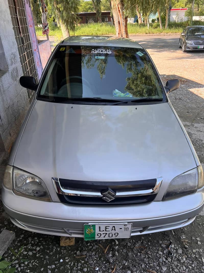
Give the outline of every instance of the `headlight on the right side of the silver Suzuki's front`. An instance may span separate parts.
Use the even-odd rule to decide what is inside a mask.
[[[199,171],[200,167],[201,166],[187,171],[186,173],[182,173],[172,179],[163,199],[173,198],[195,192],[198,188],[198,185],[202,187],[203,182],[201,182],[201,180],[199,181],[199,179],[202,179],[201,171]]]

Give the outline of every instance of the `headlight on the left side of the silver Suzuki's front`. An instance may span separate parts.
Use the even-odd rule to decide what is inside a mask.
[[[7,165],[3,183],[7,189],[13,189],[17,195],[51,201],[42,179],[15,167]]]

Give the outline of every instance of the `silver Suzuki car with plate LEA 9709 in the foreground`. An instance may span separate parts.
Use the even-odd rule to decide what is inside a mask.
[[[203,170],[147,51],[75,36],[55,48],[13,145],[2,200],[18,227],[85,240],[184,227]]]

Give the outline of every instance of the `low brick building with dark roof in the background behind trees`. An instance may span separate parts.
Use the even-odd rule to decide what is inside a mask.
[[[80,12],[78,13],[80,18],[79,24],[96,23],[98,18],[95,12]],[[110,11],[101,11],[102,22],[111,23]]]

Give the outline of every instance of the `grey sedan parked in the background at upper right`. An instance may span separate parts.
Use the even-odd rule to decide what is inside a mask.
[[[204,51],[204,26],[187,26],[181,33],[178,46],[183,52]]]

